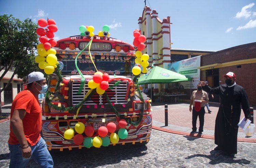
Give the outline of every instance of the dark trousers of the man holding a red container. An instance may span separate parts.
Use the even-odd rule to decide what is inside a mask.
[[[199,132],[203,132],[204,127],[204,107],[201,107],[200,111],[197,112],[195,108],[192,109],[192,131],[197,131],[197,116],[199,116]]]

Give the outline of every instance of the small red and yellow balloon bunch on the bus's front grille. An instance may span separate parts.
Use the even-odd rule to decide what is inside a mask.
[[[96,88],[96,92],[99,95],[103,95],[108,88],[109,75],[107,73],[95,72],[92,80],[88,82],[88,87],[91,89]]]

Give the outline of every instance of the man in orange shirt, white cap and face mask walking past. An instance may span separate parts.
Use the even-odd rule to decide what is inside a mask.
[[[31,156],[41,167],[53,167],[52,156],[40,136],[42,116],[38,94],[48,89],[43,73],[30,73],[27,86],[17,94],[11,107],[10,167],[26,167]]]

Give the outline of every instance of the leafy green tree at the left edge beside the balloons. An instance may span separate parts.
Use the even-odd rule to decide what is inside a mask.
[[[15,74],[23,79],[29,72],[38,70],[34,53],[38,44],[36,29],[37,24],[31,19],[21,21],[12,15],[0,15],[0,71],[3,72],[0,81],[11,68],[14,70],[8,84],[0,93],[9,86]],[[0,116],[1,113],[0,103]]]

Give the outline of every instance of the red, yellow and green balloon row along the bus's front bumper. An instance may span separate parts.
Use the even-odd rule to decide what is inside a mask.
[[[92,138],[94,135],[94,128],[91,125],[84,126],[82,122],[78,122],[75,125],[75,130],[78,134],[74,136],[74,130],[72,128],[66,130],[64,132],[64,138],[66,139],[71,139],[73,138],[73,142],[77,145],[83,144],[86,148],[91,148],[92,146],[98,148],[100,146],[109,146],[110,142],[113,144],[116,144],[120,139],[125,139],[128,135],[127,130],[125,129],[127,122],[124,119],[121,119],[118,122],[119,125],[119,131],[118,134],[114,133],[116,131],[116,124],[113,122],[109,122],[106,127],[101,126],[99,127],[97,133],[99,136],[95,136]],[[86,138],[83,138],[82,133],[85,133],[87,136]],[[108,137],[108,133],[111,133],[110,136]]]

